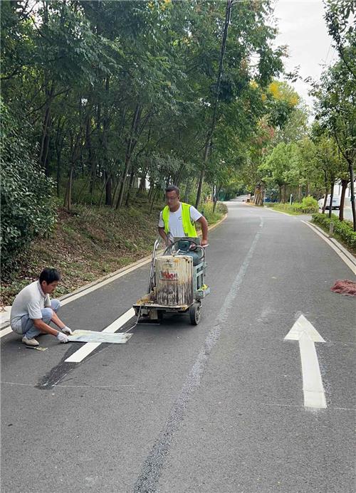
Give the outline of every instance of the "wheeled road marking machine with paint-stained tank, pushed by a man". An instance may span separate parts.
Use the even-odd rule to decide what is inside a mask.
[[[134,305],[140,319],[161,321],[164,313],[189,314],[197,325],[201,317],[201,299],[209,295],[205,284],[206,252],[200,238],[174,238],[162,255],[157,256],[160,240],[152,252],[147,294]],[[140,322],[139,322],[140,323]]]

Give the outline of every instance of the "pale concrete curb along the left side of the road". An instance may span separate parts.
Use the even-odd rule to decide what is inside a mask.
[[[217,228],[217,226],[219,226],[223,221],[225,221],[227,216],[228,216],[228,214],[226,213],[224,215],[224,217],[220,219],[220,221],[218,221],[217,223],[210,226],[208,228],[208,230],[212,231],[215,228]],[[199,233],[199,236],[201,236],[201,233]],[[136,270],[139,267],[142,267],[142,265],[149,263],[151,261],[151,258],[152,258],[152,255],[147,255],[146,257],[141,258],[140,260],[136,260],[136,262],[134,262],[132,264],[125,265],[125,267],[121,267],[120,269],[115,270],[115,272],[111,272],[110,274],[107,274],[103,277],[100,277],[99,279],[97,279],[93,282],[90,282],[89,284],[86,284],[82,287],[78,287],[78,290],[67,293],[66,295],[63,295],[63,296],[59,297],[58,299],[61,302],[64,302],[62,304],[67,304],[70,301],[72,301],[72,298],[77,299],[79,297],[85,296],[89,292],[95,291],[95,290],[99,289],[101,286],[109,284],[110,282],[115,281],[119,277],[122,277],[123,275],[129,274],[133,270]],[[5,308],[6,308],[6,311],[9,313],[9,317],[10,317],[10,308],[11,307],[5,307]],[[8,329],[10,327],[9,326],[9,320],[10,320],[10,318],[5,319],[4,322],[1,322],[0,330]]]

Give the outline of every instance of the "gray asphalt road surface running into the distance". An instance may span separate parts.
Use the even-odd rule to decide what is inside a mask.
[[[83,344],[1,338],[1,492],[355,491],[355,297],[330,291],[350,268],[300,217],[238,201],[209,243],[197,327],[164,317],[80,363],[65,360]],[[60,316],[101,331],[147,276],[140,267]],[[284,339],[302,314],[324,340],[305,343],[303,371],[302,341]],[[326,407],[305,405],[308,378]]]

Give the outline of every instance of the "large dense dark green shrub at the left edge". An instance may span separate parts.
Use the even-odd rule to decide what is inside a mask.
[[[0,101],[1,110],[1,267],[9,275],[16,258],[31,240],[45,235],[55,223],[51,205],[53,183],[24,137],[28,126],[18,124]]]

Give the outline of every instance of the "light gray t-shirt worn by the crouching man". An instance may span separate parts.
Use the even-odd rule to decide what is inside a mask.
[[[11,307],[11,329],[21,329],[21,318],[28,315],[30,319],[41,319],[43,308],[51,307],[49,295],[45,295],[39,281],[31,282],[19,292]]]

